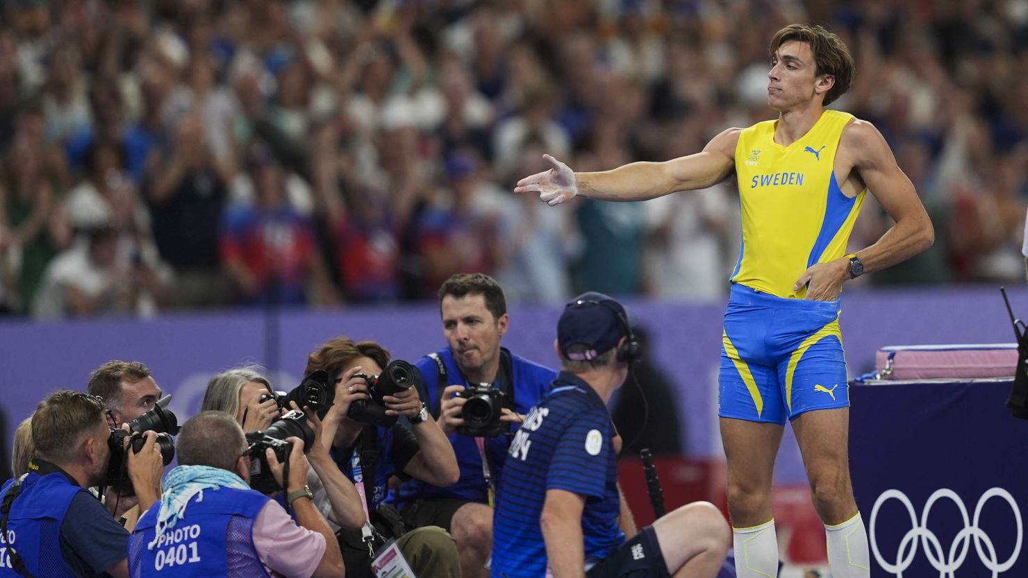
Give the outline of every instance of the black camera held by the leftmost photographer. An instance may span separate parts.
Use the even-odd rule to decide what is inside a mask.
[[[172,435],[179,432],[179,420],[175,414],[168,409],[172,396],[164,395],[157,400],[152,410],[128,422],[128,431],[120,428],[111,428],[111,435],[107,438],[107,447],[111,450],[110,465],[107,466],[107,478],[105,484],[114,488],[122,496],[133,496],[136,490],[132,487],[132,480],[125,475],[125,467],[128,464],[127,452],[123,446],[125,437],[132,437],[128,445],[134,454],[138,454],[143,449],[146,438],[143,433],[146,431],[157,432],[157,444],[160,445],[160,457],[164,465],[172,463],[175,458],[175,442]]]

